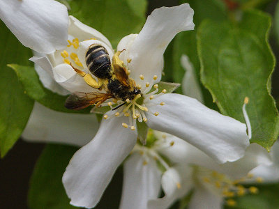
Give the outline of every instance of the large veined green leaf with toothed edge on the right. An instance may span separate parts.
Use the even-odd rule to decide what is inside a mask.
[[[275,64],[267,42],[270,26],[268,15],[250,10],[238,25],[206,21],[197,34],[204,86],[223,114],[242,122],[241,107],[247,96],[251,141],[267,149],[279,131],[278,111],[270,95]]]

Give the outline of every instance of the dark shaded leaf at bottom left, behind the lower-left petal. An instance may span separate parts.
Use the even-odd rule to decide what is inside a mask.
[[[47,145],[40,155],[31,176],[28,204],[30,209],[70,209],[62,176],[77,148]]]

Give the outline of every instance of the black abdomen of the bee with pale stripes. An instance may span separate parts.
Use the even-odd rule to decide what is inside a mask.
[[[112,77],[110,56],[102,45],[91,45],[86,52],[85,61],[90,72],[96,77],[100,79]]]

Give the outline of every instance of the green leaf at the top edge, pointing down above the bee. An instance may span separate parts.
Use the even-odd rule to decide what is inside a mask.
[[[69,1],[70,15],[103,33],[116,48],[119,40],[139,33],[146,20],[146,0]]]

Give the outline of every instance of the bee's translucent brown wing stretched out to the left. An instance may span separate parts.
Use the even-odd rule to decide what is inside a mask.
[[[84,109],[92,104],[101,104],[110,98],[112,98],[110,93],[75,92],[69,95],[65,102],[65,107],[68,109]]]

